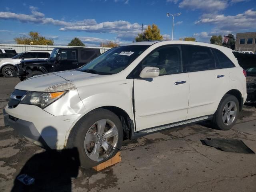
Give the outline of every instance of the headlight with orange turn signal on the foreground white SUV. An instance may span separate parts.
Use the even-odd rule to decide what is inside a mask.
[[[68,91],[61,92],[29,92],[20,104],[36,105],[40,108],[45,108],[58,98],[66,94]]]

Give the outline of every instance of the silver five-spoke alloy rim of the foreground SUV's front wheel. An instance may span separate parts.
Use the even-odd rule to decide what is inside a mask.
[[[111,156],[118,143],[118,128],[108,119],[95,122],[84,138],[84,150],[93,161],[103,161]]]

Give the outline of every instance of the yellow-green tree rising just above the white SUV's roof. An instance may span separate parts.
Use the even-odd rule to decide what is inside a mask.
[[[143,34],[139,34],[135,37],[136,42],[140,41],[151,41],[151,40],[162,40],[163,36],[160,35],[160,29],[157,25],[152,24],[152,27],[148,25]]]

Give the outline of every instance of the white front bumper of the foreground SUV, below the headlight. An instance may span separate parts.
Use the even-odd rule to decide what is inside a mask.
[[[54,116],[38,106],[18,104],[15,108],[6,106],[4,122],[42,148],[61,150],[80,115]]]

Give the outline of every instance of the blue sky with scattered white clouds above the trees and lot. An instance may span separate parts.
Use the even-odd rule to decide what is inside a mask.
[[[87,46],[113,40],[132,42],[141,24],[156,24],[164,38],[194,36],[209,42],[212,35],[256,31],[256,0],[0,0],[0,43],[38,31],[56,45],[74,37]]]

